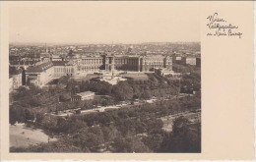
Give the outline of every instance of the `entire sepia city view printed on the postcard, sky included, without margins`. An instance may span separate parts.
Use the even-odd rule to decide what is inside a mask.
[[[10,153],[201,153],[198,5],[12,3]]]

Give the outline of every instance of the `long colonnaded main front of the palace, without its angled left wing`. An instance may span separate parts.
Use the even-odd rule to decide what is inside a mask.
[[[134,71],[149,72],[156,68],[172,70],[172,59],[162,55],[101,55],[81,56],[76,58],[78,72],[105,71]]]

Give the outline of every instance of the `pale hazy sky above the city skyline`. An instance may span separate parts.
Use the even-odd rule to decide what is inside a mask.
[[[196,2],[13,2],[10,42],[200,41]]]

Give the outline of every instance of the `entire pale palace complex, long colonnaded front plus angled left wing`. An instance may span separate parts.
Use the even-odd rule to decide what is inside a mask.
[[[42,58],[26,70],[26,82],[44,85],[63,76],[98,71],[154,72],[155,69],[172,70],[172,59],[163,55],[72,55],[62,59]]]

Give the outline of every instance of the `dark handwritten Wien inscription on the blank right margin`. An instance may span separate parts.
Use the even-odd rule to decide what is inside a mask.
[[[207,27],[210,29],[207,33],[208,36],[242,37],[242,32],[239,31],[239,27],[229,24],[225,19],[220,18],[218,13],[207,17],[207,20],[209,20]]]

